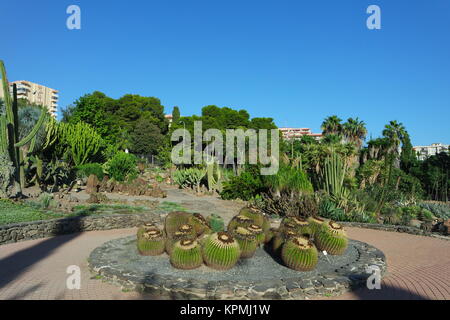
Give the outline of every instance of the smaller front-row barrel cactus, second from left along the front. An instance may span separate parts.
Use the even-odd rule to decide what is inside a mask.
[[[196,240],[180,240],[173,245],[170,263],[177,269],[195,269],[203,264],[202,250]]]

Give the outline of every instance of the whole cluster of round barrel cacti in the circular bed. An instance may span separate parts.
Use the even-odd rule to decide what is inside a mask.
[[[279,228],[271,228],[267,216],[252,207],[243,208],[233,217],[227,231],[214,232],[199,213],[176,211],[167,215],[164,230],[146,223],[137,233],[139,253],[166,252],[173,267],[185,270],[203,264],[228,270],[239,259],[253,257],[263,245],[279,255],[287,267],[310,271],[316,267],[320,251],[341,255],[348,240],[342,226],[320,217],[285,217]]]

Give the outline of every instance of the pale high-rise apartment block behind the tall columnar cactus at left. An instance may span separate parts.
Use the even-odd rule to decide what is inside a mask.
[[[9,83],[9,89],[11,93],[14,84],[17,86],[18,99],[26,99],[30,103],[44,106],[48,109],[53,117],[56,117],[56,110],[58,108],[59,99],[58,90],[48,88],[30,81],[20,80]],[[0,89],[0,98],[3,98],[3,87],[1,87]]]

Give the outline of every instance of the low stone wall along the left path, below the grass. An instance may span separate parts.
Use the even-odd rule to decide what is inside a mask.
[[[0,245],[84,231],[133,228],[144,222],[160,222],[156,213],[105,214],[41,220],[0,226]]]

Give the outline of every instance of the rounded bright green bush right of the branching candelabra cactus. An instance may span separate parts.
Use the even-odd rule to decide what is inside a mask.
[[[131,153],[118,152],[105,164],[107,173],[116,181],[134,179],[138,175],[137,158]]]

